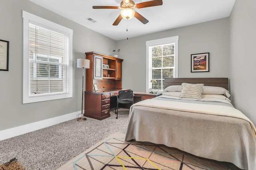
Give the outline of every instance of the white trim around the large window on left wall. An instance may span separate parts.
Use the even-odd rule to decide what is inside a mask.
[[[73,41],[73,30],[69,29],[67,27],[64,27],[62,25],[59,25],[57,23],[54,23],[52,21],[48,21],[44,18],[35,16],[33,14],[30,14],[26,11],[22,11],[22,17],[23,17],[23,104],[26,103],[33,103],[33,102],[42,102],[42,101],[48,101],[48,100],[57,100],[57,99],[63,99],[63,98],[72,98],[73,97],[73,74],[72,74],[72,41]],[[29,22],[31,23],[38,23],[39,25],[44,25],[46,28],[51,29],[56,32],[66,33],[69,36],[69,47],[68,47],[68,53],[69,53],[69,62],[68,62],[68,74],[69,74],[69,93],[68,94],[58,94],[58,95],[47,95],[47,96],[34,96],[29,97],[29,43],[28,43],[28,30],[29,30]]]

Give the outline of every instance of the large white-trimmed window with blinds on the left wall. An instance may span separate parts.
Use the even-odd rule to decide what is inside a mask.
[[[23,11],[23,103],[72,97],[73,31]]]

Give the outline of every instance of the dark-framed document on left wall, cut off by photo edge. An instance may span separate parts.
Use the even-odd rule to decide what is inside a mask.
[[[9,70],[9,41],[0,39],[0,70]]]

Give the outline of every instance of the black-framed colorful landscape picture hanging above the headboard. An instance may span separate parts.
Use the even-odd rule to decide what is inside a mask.
[[[199,53],[191,55],[191,72],[209,72],[209,54]]]

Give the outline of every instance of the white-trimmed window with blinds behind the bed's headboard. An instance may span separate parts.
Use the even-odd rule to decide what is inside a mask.
[[[146,89],[162,91],[164,78],[178,77],[178,36],[146,41],[146,46]]]

